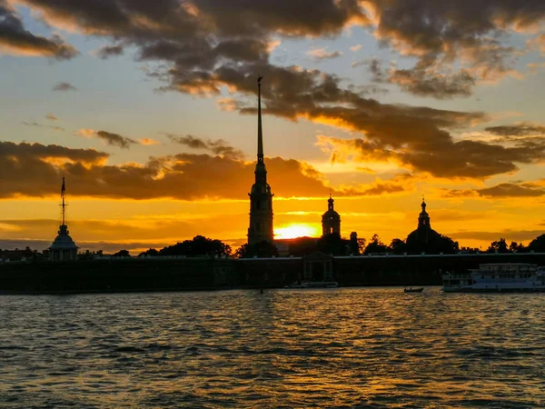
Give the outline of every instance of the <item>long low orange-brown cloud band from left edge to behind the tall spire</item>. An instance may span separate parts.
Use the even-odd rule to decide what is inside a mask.
[[[143,165],[107,165],[108,158],[94,149],[0,142],[0,197],[57,195],[59,179],[65,176],[70,195],[246,200],[254,182],[255,164],[228,155],[181,153],[150,157]],[[281,157],[265,161],[276,197],[317,197],[329,191],[323,175],[311,165]],[[360,194],[348,188],[333,193]]]

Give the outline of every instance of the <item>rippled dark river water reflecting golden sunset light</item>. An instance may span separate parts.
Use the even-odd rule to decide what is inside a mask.
[[[0,297],[0,407],[545,407],[545,294]]]

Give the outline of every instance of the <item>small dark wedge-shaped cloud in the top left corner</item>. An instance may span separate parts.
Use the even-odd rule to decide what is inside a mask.
[[[78,55],[59,35],[45,38],[25,30],[21,17],[5,0],[0,0],[0,46],[16,55],[41,55],[57,60]]]

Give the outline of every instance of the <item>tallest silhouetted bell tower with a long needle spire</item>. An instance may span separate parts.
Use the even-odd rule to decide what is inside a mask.
[[[250,196],[250,227],[248,228],[248,244],[263,241],[272,242],[272,193],[267,184],[267,169],[263,156],[263,129],[261,115],[261,80],[257,79],[258,108],[257,108],[257,164],[255,165],[255,183]]]

